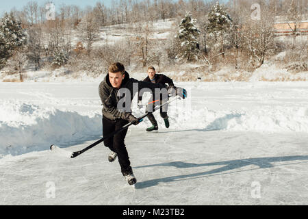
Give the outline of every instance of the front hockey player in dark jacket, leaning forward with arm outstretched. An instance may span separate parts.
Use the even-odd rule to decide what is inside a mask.
[[[129,122],[132,122],[133,125],[140,123],[138,118],[131,114],[130,105],[136,92],[143,88],[151,89],[153,94],[156,94],[155,92],[159,88],[159,96],[162,94],[166,98],[168,98],[168,94],[173,96],[179,95],[185,98],[183,96],[185,90],[182,88],[170,88],[167,93],[167,86],[162,84],[148,83],[129,78],[129,74],[125,71],[123,64],[116,62],[109,67],[108,74],[99,84],[99,96],[103,103],[103,136],[109,135]],[[124,94],[123,98],[119,96],[121,93]],[[122,101],[123,99],[125,100],[124,102]],[[133,185],[136,183],[136,177],[133,175],[129,155],[124,143],[126,133],[127,129],[120,131],[120,133],[113,137],[104,140],[104,144],[112,151],[108,157],[109,161],[114,162],[116,157],[118,157],[123,176],[129,185]]]

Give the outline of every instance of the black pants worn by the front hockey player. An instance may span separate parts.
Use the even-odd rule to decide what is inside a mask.
[[[124,125],[129,123],[127,120],[117,119],[110,120],[103,116],[103,136],[107,136],[108,134],[120,129]],[[127,129],[120,131],[113,137],[107,138],[104,140],[104,145],[107,146],[111,151],[114,151],[118,155],[118,162],[121,167],[121,172],[123,175],[126,173],[131,173],[131,162],[129,162],[129,155],[127,153],[127,149],[125,147],[125,136],[127,133]]]

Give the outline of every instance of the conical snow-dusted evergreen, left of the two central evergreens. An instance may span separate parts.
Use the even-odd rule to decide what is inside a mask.
[[[188,12],[179,24],[178,38],[181,42],[181,50],[177,57],[180,60],[194,61],[198,60],[199,43],[198,36],[200,31],[196,27],[196,19]]]

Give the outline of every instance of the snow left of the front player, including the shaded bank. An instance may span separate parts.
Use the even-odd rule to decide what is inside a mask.
[[[18,86],[18,88],[16,88]],[[46,88],[49,87],[49,88]],[[84,111],[86,105],[99,105],[97,101],[85,99],[82,101],[82,90],[78,86],[69,84],[64,86],[79,96],[78,101],[65,96],[65,99],[57,99],[54,94],[67,95],[57,92],[57,86],[33,83],[1,85],[0,101],[0,154],[11,153],[18,155],[29,151],[41,151],[46,149],[49,142],[69,143],[84,136],[98,135],[101,133],[101,111]],[[31,88],[32,87],[32,88]],[[31,89],[29,89],[31,88]],[[15,91],[8,95],[8,90]],[[53,90],[53,93],[49,92]],[[55,92],[55,93],[54,93]],[[29,101],[24,102],[24,99]],[[70,100],[69,100],[70,99]],[[81,109],[78,113],[73,111]],[[86,109],[88,109],[86,107]]]

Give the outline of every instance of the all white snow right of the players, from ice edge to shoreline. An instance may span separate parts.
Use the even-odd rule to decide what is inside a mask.
[[[296,82],[176,83],[188,90],[188,99],[170,103],[170,127],[199,131],[308,133],[307,98],[301,91],[306,83],[299,82],[297,88],[292,83]],[[146,100],[146,97],[142,99],[144,103]],[[136,105],[133,105],[133,112],[138,112]],[[164,129],[159,112],[154,115],[159,127]],[[149,125],[146,119],[138,127]]]

